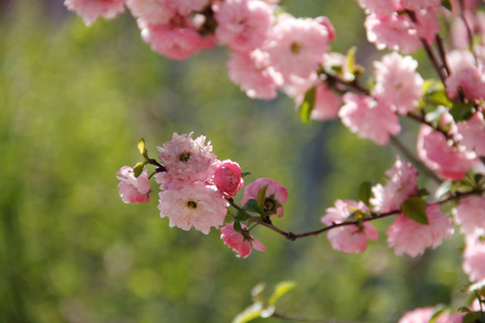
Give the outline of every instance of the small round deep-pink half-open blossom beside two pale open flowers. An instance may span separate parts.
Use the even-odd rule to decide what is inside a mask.
[[[237,191],[244,185],[239,164],[231,160],[219,162],[214,174],[214,183],[224,196],[235,196]]]

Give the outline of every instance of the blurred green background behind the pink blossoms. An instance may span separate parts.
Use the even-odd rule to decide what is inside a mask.
[[[333,50],[357,44],[359,62],[375,57],[354,1],[282,3],[329,16]],[[333,251],[324,235],[291,242],[259,228],[267,252],[240,259],[217,231],[170,229],[156,194],[123,204],[115,174],[139,160],[141,137],[154,156],[173,132],[207,135],[219,159],[251,171],[246,182],[288,188],[276,224],[295,232],[320,228],[335,199],[382,179],[396,152],[338,121],[303,125],[284,95],[249,100],[226,77],[224,48],[183,62],[155,54],[128,13],[87,28],[60,0],[0,10],[0,322],[230,322],[252,286],[281,280],[298,286],[278,303],[290,316],[395,322],[415,307],[462,305],[459,235],[411,259],[386,247],[392,219],[375,223],[380,240],[359,255]]]

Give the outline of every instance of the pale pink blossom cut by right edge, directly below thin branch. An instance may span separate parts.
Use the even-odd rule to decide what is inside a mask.
[[[462,225],[465,234],[485,230],[485,197],[469,196],[454,209],[456,222]]]

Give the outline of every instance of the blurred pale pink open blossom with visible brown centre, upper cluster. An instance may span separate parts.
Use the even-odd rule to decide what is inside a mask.
[[[308,77],[322,62],[329,48],[331,33],[316,19],[278,16],[263,49],[269,53],[270,64],[287,80],[290,75]]]

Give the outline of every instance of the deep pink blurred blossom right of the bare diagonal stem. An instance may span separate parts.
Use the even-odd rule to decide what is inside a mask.
[[[418,135],[419,158],[445,179],[463,179],[475,160],[475,153],[447,144],[445,135],[422,125]]]

